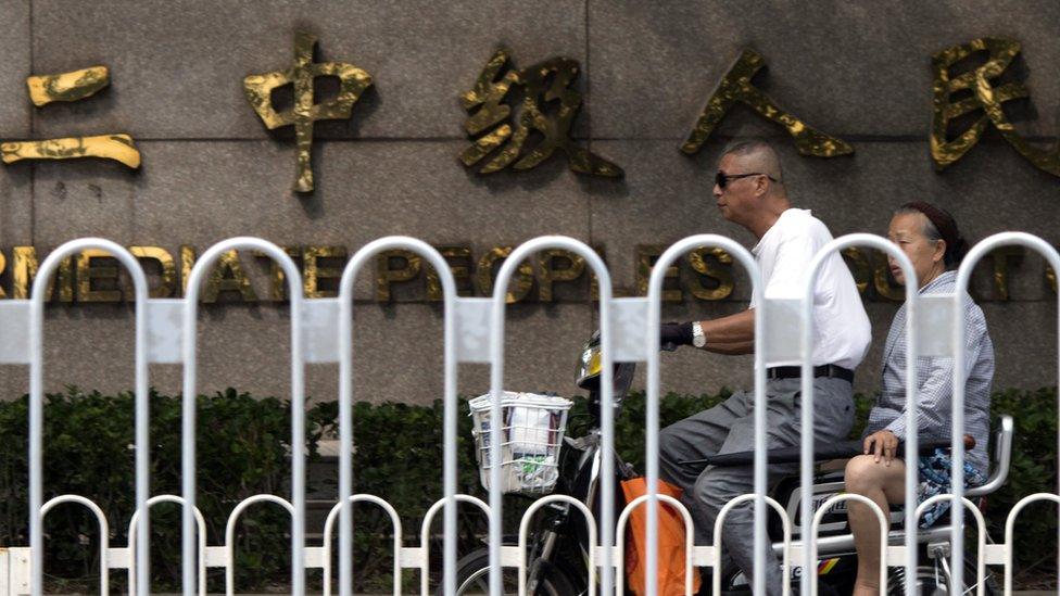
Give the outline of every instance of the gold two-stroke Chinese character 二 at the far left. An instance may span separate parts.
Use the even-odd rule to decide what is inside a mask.
[[[71,73],[39,75],[26,78],[29,99],[40,107],[54,101],[78,101],[96,94],[110,85],[106,66],[92,66]],[[114,160],[136,169],[140,167],[140,152],[128,135],[100,135],[39,141],[0,143],[0,160],[13,164],[23,160],[73,160],[101,157]]]

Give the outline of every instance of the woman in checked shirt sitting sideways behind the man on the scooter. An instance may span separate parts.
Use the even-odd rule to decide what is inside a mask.
[[[952,294],[957,272],[951,270],[964,254],[966,244],[957,223],[946,212],[923,202],[907,203],[895,212],[887,237],[897,244],[917,274],[920,295]],[[898,283],[907,280],[898,264],[888,259]],[[990,381],[994,377],[994,345],[986,331],[983,312],[966,302],[964,432],[975,440],[966,455],[964,482],[974,486],[985,482],[986,445],[989,434]],[[869,414],[865,455],[847,464],[846,489],[871,498],[888,511],[905,499],[906,462],[895,457],[906,438],[906,306],[895,314],[887,334],[883,360],[880,401]],[[917,363],[917,431],[921,440],[947,439],[951,430],[952,358],[920,357]],[[920,470],[918,498],[950,492],[951,462],[946,451],[917,460]],[[929,509],[921,525],[933,523],[949,507],[944,500]],[[858,550],[856,596],[880,593],[880,525],[869,507],[850,502],[850,529]]]

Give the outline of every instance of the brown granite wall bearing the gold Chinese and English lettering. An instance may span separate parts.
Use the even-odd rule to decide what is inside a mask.
[[[994,131],[961,162],[936,173],[929,154],[931,55],[1000,36],[1023,43],[1017,75],[1031,89],[1014,102],[1019,130],[1055,141],[1060,114],[1060,4],[946,1],[851,2],[0,2],[0,139],[125,131],[143,166],[130,173],[100,161],[0,167],[0,251],[47,253],[83,236],[125,245],[179,245],[201,253],[239,234],[285,245],[343,245],[403,233],[432,244],[467,244],[476,258],[499,245],[561,233],[602,245],[616,283],[632,286],[636,244],[669,244],[698,232],[753,238],[721,219],[709,196],[714,163],[733,137],[767,137],[781,151],[798,206],[836,236],[885,231],[896,205],[934,201],[957,215],[970,239],[1025,230],[1060,241],[1060,179],[1034,168]],[[324,60],[356,64],[375,86],[350,122],[316,127],[316,191],[291,192],[291,136],[268,132],[247,103],[242,78],[287,68],[293,36],[319,37]],[[578,60],[584,94],[573,127],[593,152],[622,166],[621,180],[586,178],[556,156],[529,172],[477,175],[457,161],[467,147],[458,94],[494,49],[517,65],[556,55]],[[743,48],[768,72],[756,79],[778,103],[854,144],[853,156],[800,156],[775,125],[737,107],[697,155],[678,148],[717,81]],[[101,94],[35,109],[29,74],[94,64],[111,67]],[[258,295],[263,263],[244,257]],[[989,265],[985,265],[988,267]],[[998,353],[997,386],[1056,383],[1056,296],[1042,259],[1010,271],[1008,301],[989,271],[977,280]],[[367,275],[365,277],[371,277]],[[0,287],[11,289],[9,270]],[[370,280],[358,294],[358,400],[427,402],[441,394],[441,316],[419,284],[379,304]],[[570,392],[577,351],[594,328],[588,279],[564,286],[555,303],[509,308],[508,385]],[[722,302],[685,296],[665,317],[686,320],[743,308],[748,286]],[[418,297],[417,297],[418,296]],[[872,301],[873,350],[857,386],[875,385],[894,303]],[[288,316],[274,303],[203,308],[200,388],[288,392]],[[132,386],[131,308],[73,304],[49,308],[49,389]],[[5,367],[0,394],[26,388],[26,370]],[[683,351],[667,355],[664,386],[714,392],[750,378],[749,358]],[[178,391],[180,371],[152,368],[152,383]],[[483,366],[460,368],[462,393],[488,388]],[[337,370],[311,367],[307,392],[333,398]]]

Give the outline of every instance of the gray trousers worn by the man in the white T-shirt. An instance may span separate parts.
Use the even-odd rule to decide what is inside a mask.
[[[769,448],[799,444],[800,389],[799,379],[775,379],[766,383],[768,416],[766,421]],[[817,442],[846,439],[854,423],[854,391],[850,383],[833,378],[813,380],[813,436]],[[699,470],[681,466],[689,459],[709,455],[755,449],[755,393],[734,393],[723,403],[670,424],[659,433],[659,469],[667,482],[684,491],[682,502],[695,522],[695,543],[712,544],[714,524],[718,512],[730,499],[754,492],[754,470],[750,466],[715,467]],[[769,480],[797,473],[798,465],[770,465]],[[754,505],[735,507],[727,516],[722,529],[724,555],[722,565],[735,563],[747,575],[754,572]],[[767,516],[773,515],[772,509]],[[769,594],[781,594],[783,578],[780,561],[768,549],[766,585]]]

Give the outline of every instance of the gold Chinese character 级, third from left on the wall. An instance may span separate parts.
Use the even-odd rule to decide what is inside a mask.
[[[621,176],[621,167],[579,147],[569,136],[581,107],[581,93],[570,89],[578,69],[575,60],[553,58],[516,71],[509,64],[509,52],[497,50],[475,88],[460,96],[460,103],[469,114],[464,123],[468,135],[475,137],[495,127],[460,153],[464,165],[474,166],[503,144],[500,153],[479,169],[480,174],[499,172],[509,165],[515,169],[530,169],[558,149],[567,154],[570,169],[579,174]],[[513,125],[505,122],[512,115],[512,106],[504,101],[514,87],[522,88],[523,98],[513,130]],[[556,101],[555,111],[548,110]],[[526,142],[531,132],[540,134],[542,140],[528,149]]]

